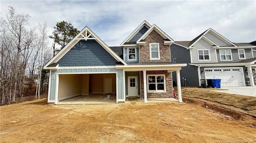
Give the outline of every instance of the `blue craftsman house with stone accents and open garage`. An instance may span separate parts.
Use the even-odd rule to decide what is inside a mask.
[[[178,79],[178,101],[182,102],[180,69],[187,64],[171,62],[172,43],[173,39],[159,27],[146,21],[120,47],[108,47],[84,27],[44,65],[50,70],[48,102],[61,104],[76,98],[72,102],[82,104],[79,101],[93,100],[89,96],[104,102],[106,94],[115,96],[114,103],[125,102],[129,96],[144,102],[148,98],[173,98],[173,71]]]

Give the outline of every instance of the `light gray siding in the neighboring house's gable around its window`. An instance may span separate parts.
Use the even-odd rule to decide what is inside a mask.
[[[209,50],[210,61],[199,61],[198,60],[198,49]],[[209,44],[204,39],[200,39],[197,43],[194,44],[194,48],[191,49],[192,63],[216,63],[216,50],[212,48],[212,45]]]

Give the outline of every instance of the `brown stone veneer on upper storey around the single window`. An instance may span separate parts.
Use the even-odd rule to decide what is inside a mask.
[[[170,62],[170,45],[164,45],[164,38],[153,30],[146,38],[146,44],[140,46],[140,63]],[[150,60],[150,43],[159,43],[160,60]]]

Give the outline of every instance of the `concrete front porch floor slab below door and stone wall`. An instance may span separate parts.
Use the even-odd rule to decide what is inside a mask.
[[[140,98],[131,98],[129,101],[125,101],[125,103],[144,103],[144,99]],[[148,98],[147,103],[179,103],[175,98]]]

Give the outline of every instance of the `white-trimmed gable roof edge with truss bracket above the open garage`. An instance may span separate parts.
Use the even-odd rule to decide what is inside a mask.
[[[92,32],[87,26],[84,27],[78,35],[76,35],[63,49],[61,49],[48,63],[44,65],[44,69],[52,63],[57,63],[78,41],[95,39],[116,61],[122,62],[124,65],[127,65],[122,58],[120,58],[116,53],[114,53],[108,45],[106,45],[94,32]]]

